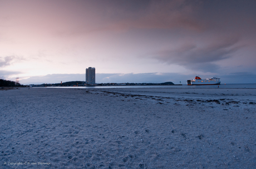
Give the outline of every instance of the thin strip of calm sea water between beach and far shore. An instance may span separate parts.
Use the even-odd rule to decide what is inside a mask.
[[[256,89],[256,83],[253,84],[220,84],[220,85],[170,85],[170,86],[93,86],[93,87],[86,87],[86,86],[67,86],[67,87],[47,87],[47,88],[72,88],[72,89],[102,89],[102,88],[250,88]]]

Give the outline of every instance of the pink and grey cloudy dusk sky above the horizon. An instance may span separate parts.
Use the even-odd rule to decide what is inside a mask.
[[[256,1],[0,0],[0,78],[256,83]]]

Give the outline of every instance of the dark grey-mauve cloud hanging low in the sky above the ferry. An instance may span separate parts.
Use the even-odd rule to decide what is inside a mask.
[[[238,49],[239,38],[229,37],[224,40],[211,41],[210,44],[196,44],[196,42],[184,42],[180,47],[172,50],[164,50],[152,54],[160,62],[178,64],[188,69],[201,70],[204,72],[216,72],[219,68],[214,62],[228,59]],[[208,42],[209,43],[209,42]]]

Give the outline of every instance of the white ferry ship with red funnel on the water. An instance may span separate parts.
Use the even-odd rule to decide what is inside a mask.
[[[188,85],[218,85],[220,84],[220,78],[212,77],[209,79],[201,79],[199,76],[195,76],[193,80],[187,80]]]

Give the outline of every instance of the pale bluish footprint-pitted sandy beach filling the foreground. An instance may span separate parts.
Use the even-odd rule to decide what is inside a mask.
[[[255,168],[256,89],[0,91],[0,168]]]

